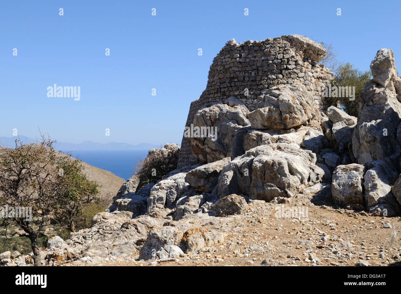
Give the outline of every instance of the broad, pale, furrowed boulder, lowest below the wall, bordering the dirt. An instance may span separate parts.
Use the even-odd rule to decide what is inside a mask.
[[[316,155],[297,144],[261,145],[223,167],[216,193],[219,198],[243,194],[265,201],[292,197],[322,181],[324,171],[315,163]]]

